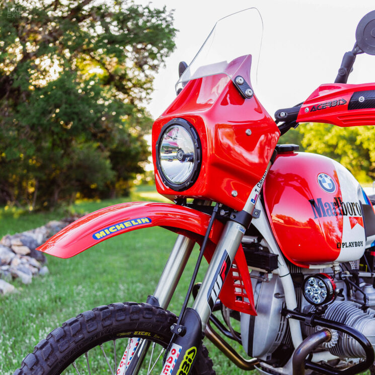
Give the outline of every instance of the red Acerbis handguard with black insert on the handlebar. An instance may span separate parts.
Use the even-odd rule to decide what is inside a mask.
[[[321,85],[302,104],[296,121],[375,125],[374,90],[374,83]]]

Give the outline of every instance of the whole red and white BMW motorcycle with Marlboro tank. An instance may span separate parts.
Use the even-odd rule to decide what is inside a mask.
[[[228,22],[236,32],[246,25],[246,54]],[[375,201],[339,163],[277,144],[303,122],[374,124],[375,84],[346,82],[357,54],[375,55],[375,11],[359,22],[335,82],[275,120],[257,97],[261,34],[257,9],[236,13],[216,23],[189,66],[180,63],[177,97],[152,134],[156,187],[174,204],[107,207],[38,249],[68,258],[129,231],[166,228],[178,236],[154,293],[69,319],[15,375],[214,374],[203,338],[262,374],[375,373]],[[176,317],[167,308],[195,243]],[[195,283],[203,257],[208,269]]]

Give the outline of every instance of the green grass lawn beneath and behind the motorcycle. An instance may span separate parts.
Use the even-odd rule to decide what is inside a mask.
[[[70,210],[93,211],[124,201],[155,198],[154,189],[138,189],[129,198],[79,202]],[[3,208],[0,237],[35,228],[64,214]],[[0,297],[0,373],[11,375],[36,343],[85,310],[113,302],[144,302],[155,290],[175,238],[165,229],[149,228],[114,237],[70,259],[47,256],[49,275],[36,277],[30,285],[15,282],[18,292]],[[180,312],[197,255],[195,249],[172,298],[169,309],[175,314]],[[205,261],[202,265],[197,280],[202,279],[206,269]],[[210,342],[205,340],[205,344],[218,375],[243,373]]]

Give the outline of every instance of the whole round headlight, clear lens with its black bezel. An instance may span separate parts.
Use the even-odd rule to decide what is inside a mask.
[[[177,118],[164,125],[156,144],[156,164],[164,184],[173,190],[186,190],[196,181],[201,147],[188,121]]]

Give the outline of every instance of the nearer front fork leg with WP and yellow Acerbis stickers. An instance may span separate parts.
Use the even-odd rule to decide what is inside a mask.
[[[173,339],[161,375],[187,375],[202,341],[211,310],[231,269],[246,229],[227,221],[192,308],[181,320],[181,334]],[[183,335],[184,330],[187,333]],[[177,355],[177,356],[176,356]]]

